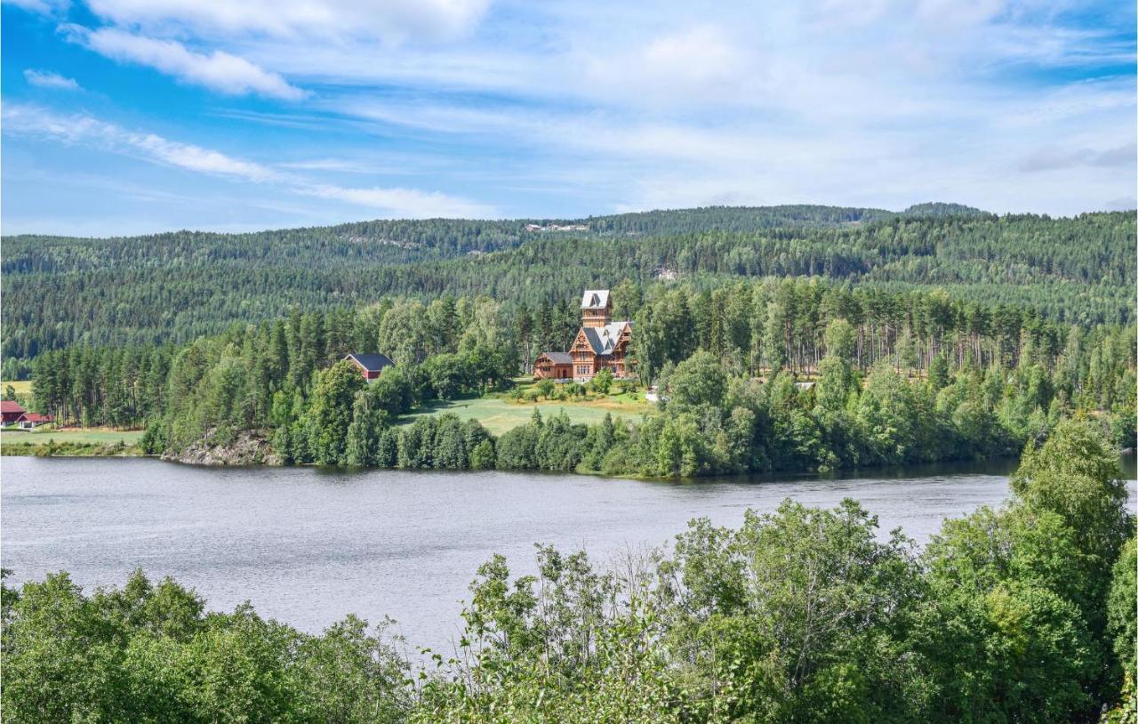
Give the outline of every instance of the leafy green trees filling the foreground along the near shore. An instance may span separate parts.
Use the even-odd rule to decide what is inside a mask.
[[[495,556],[453,657],[386,627],[207,614],[135,574],[2,591],[6,721],[1111,722],[1138,717],[1135,521],[1116,452],[1065,422],[1012,497],[924,550],[851,500],[693,520],[612,568]]]

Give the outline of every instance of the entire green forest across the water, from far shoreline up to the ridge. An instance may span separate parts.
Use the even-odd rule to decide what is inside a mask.
[[[1133,214],[702,208],[541,222],[6,241],[5,375],[63,425],[286,463],[703,476],[1133,446]],[[402,417],[509,390],[612,285],[644,419]],[[460,294],[467,290],[469,294]],[[349,352],[396,367],[365,385]],[[603,384],[603,389],[597,389]],[[605,378],[546,398],[607,393]]]

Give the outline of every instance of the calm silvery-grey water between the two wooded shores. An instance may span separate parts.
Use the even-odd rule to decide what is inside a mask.
[[[535,542],[584,546],[603,561],[666,543],[693,517],[737,526],[747,508],[770,511],[785,497],[826,507],[855,497],[883,532],[901,526],[923,543],[945,517],[1000,503],[1011,468],[676,484],[3,458],[2,561],[17,582],[66,569],[84,587],[122,584],[142,567],[195,587],[213,609],[249,599],[307,631],[347,612],[386,614],[412,644],[447,648],[492,553],[519,573],[531,571]]]

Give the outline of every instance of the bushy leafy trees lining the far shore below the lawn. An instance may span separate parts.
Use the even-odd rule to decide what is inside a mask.
[[[828,332],[834,348],[842,348],[843,335],[848,348],[848,326],[835,322]],[[955,375],[934,365],[920,384],[877,367],[863,381],[848,359],[832,353],[818,381],[802,386],[785,372],[767,382],[732,378],[699,352],[661,377],[666,401],[640,422],[607,416],[574,425],[564,413],[535,412],[495,438],[477,421],[450,414],[394,425],[391,410],[407,398],[393,394],[406,386],[403,379],[396,373],[365,387],[346,363],[321,373],[310,411],[277,428],[274,450],[284,462],[699,477],[1011,455],[1081,414],[1034,365],[1007,373],[966,367]],[[1130,398],[1095,425],[1115,444],[1132,446]]]

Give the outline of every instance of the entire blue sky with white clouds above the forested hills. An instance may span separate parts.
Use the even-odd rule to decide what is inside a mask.
[[[1135,22],[1131,0],[5,1],[0,221],[1133,208]]]

